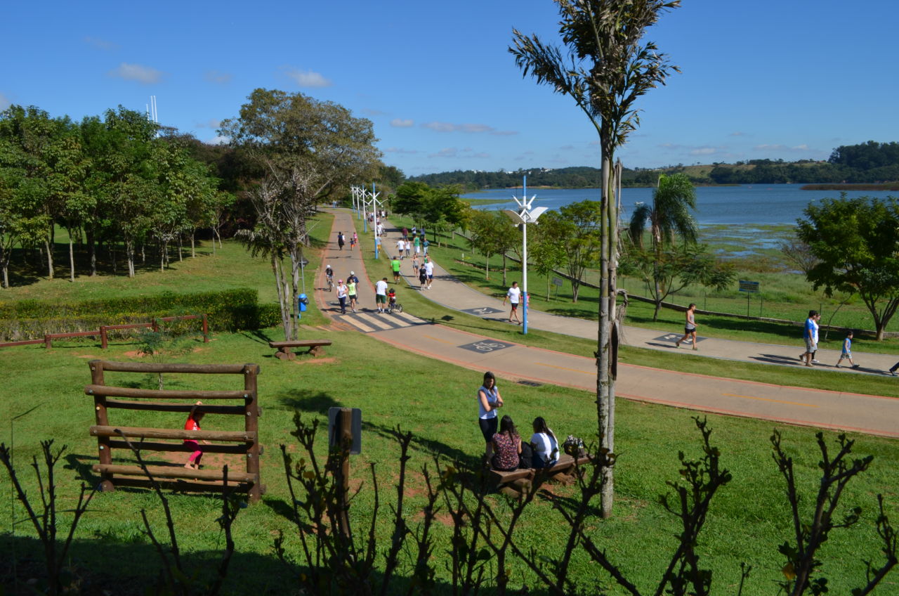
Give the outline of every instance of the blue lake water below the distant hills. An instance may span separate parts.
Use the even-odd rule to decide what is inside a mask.
[[[839,191],[800,190],[802,185],[740,185],[699,186],[696,189],[696,221],[700,226],[788,224],[803,216],[808,203],[824,198],[840,198]],[[578,201],[599,201],[598,188],[538,188],[528,189],[528,196],[537,195],[533,206],[557,209]],[[512,196],[521,198],[521,188],[502,188],[482,193],[463,194],[463,199],[495,199],[496,203],[476,205],[481,209],[516,209]],[[886,191],[852,191],[850,198],[874,196],[886,198],[899,193]],[[649,203],[652,188],[624,188],[621,191],[621,221],[628,221],[634,203]]]

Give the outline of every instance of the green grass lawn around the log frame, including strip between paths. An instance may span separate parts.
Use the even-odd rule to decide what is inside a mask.
[[[323,217],[313,228],[316,241],[325,239],[330,230],[330,219]],[[361,236],[361,234],[360,234]],[[363,246],[370,246],[363,240]],[[455,248],[435,256],[441,265],[449,261]],[[221,259],[221,263],[219,263]],[[311,265],[318,258],[309,258]],[[187,268],[196,266],[196,269]],[[258,287],[267,300],[273,300],[274,288],[271,268],[267,261],[252,259],[243,248],[228,245],[216,257],[211,255],[187,259],[175,264],[162,275],[150,271],[141,272],[129,280],[104,275],[99,279],[79,278],[76,284],[54,280],[40,281],[29,288],[13,288],[6,299],[14,296],[40,297],[47,300],[68,300],[90,297],[88,287],[97,293],[153,292],[156,288],[169,291],[192,291],[195,284],[206,289],[219,287],[219,283],[234,286]],[[205,267],[201,266],[205,265]],[[367,255],[369,276],[380,277],[387,271],[387,260],[382,256],[377,263]],[[312,287],[313,272],[307,269],[307,291]],[[227,281],[226,281],[227,280]],[[182,288],[176,290],[174,288]],[[489,289],[489,288],[488,288]],[[501,288],[500,288],[501,289]],[[27,292],[26,292],[27,290]],[[499,291],[494,288],[492,291]],[[17,294],[18,293],[18,294]],[[22,295],[25,293],[26,295]],[[483,321],[464,313],[447,312],[416,292],[401,293],[406,311],[425,319],[489,335],[524,343],[525,338],[507,325]],[[595,304],[593,305],[595,306]],[[680,324],[681,319],[677,319]],[[312,309],[304,315],[303,323],[318,326],[325,322],[321,313]],[[706,321],[708,323],[708,321]],[[673,322],[672,322],[673,324]],[[760,333],[762,333],[760,331]],[[289,573],[273,555],[272,542],[279,531],[286,533],[289,553],[298,555],[298,540],[289,523],[289,493],[280,463],[280,444],[291,453],[297,453],[296,440],[290,436],[291,419],[295,411],[304,418],[325,420],[325,412],[331,406],[359,407],[363,415],[363,447],[360,456],[352,458],[352,486],[362,489],[353,502],[352,520],[357,528],[363,528],[366,514],[373,507],[371,482],[366,472],[370,463],[376,464],[381,487],[383,519],[376,531],[381,538],[389,537],[393,530],[388,506],[396,499],[392,483],[396,481],[397,450],[387,437],[388,429],[401,425],[414,432],[413,459],[410,462],[410,485],[407,487],[407,506],[410,511],[423,505],[423,465],[432,465],[432,458],[457,460],[462,465],[477,465],[483,445],[476,427],[475,392],[480,375],[467,369],[430,360],[402,350],[396,350],[369,335],[349,331],[307,329],[303,334],[326,335],[334,340],[326,357],[299,357],[297,361],[281,362],[273,357],[267,346],[268,339],[280,339],[280,329],[261,330],[258,333],[214,334],[213,341],[203,345],[194,343],[194,350],[179,357],[179,361],[191,363],[245,363],[262,366],[259,377],[260,401],[263,418],[260,420],[263,455],[263,483],[267,493],[263,501],[240,514],[235,526],[237,553],[225,593],[283,594],[292,590]],[[531,331],[526,338],[530,345],[589,355],[595,349],[593,342],[572,339],[541,331]],[[9,384],[6,411],[7,424],[0,429],[0,440],[13,444],[14,456],[22,478],[29,487],[29,494],[36,496],[36,485],[28,466],[31,456],[39,453],[42,438],[54,438],[56,445],[67,445],[67,452],[60,461],[58,486],[63,502],[71,502],[82,482],[93,483],[96,477],[90,465],[97,457],[96,441],[87,434],[93,424],[92,400],[83,389],[90,382],[87,361],[94,357],[111,360],[134,359],[137,344],[114,343],[102,352],[93,341],[62,342],[52,350],[37,346],[6,348],[2,354],[4,372]],[[687,356],[691,357],[691,356]],[[682,358],[652,350],[627,348],[622,350],[622,360],[643,366],[682,369]],[[695,361],[695,362],[694,362]],[[720,361],[693,357],[691,371],[699,374],[721,375],[761,380],[769,383],[801,384],[822,388],[837,383],[839,375],[814,375],[814,371],[792,370],[779,366],[751,363],[727,363],[725,371],[719,370]],[[781,370],[783,368],[783,370]],[[142,386],[151,387],[155,378],[138,377]],[[236,388],[233,379],[218,375],[202,375],[200,379],[167,379],[167,388]],[[108,381],[116,382],[110,375]],[[860,393],[889,393],[895,384],[886,379],[856,380],[867,388]],[[881,384],[883,382],[883,384]],[[822,385],[823,384],[823,385]],[[592,436],[596,425],[596,409],[591,393],[552,386],[528,387],[511,384],[500,379],[507,413],[521,427],[527,427],[535,416],[544,416],[556,434],[573,434],[583,438]],[[859,391],[858,387],[853,387]],[[33,410],[32,410],[33,409]],[[27,413],[25,413],[27,412]],[[21,418],[17,418],[24,414]],[[593,535],[606,547],[634,582],[643,590],[654,585],[663,571],[664,556],[672,552],[674,520],[658,502],[659,494],[666,492],[665,483],[675,481],[677,453],[700,456],[699,433],[691,417],[695,412],[667,408],[658,405],[619,400],[617,409],[617,452],[619,464],[616,475],[617,501],[612,519],[591,520]],[[700,539],[703,561],[715,570],[715,585],[720,593],[732,593],[739,578],[739,563],[753,565],[752,578],[744,594],[771,594],[773,582],[782,575],[784,563],[777,546],[789,536],[787,501],[783,495],[783,482],[770,459],[769,438],[774,425],[759,420],[728,418],[709,415],[715,429],[713,444],[724,453],[723,464],[734,474],[733,483],[719,493],[709,514],[708,528]],[[112,411],[111,423],[124,426],[166,426],[180,428],[180,415],[150,414],[137,411]],[[209,415],[203,422],[204,429],[237,429],[237,420]],[[816,486],[819,455],[814,446],[814,429],[779,426],[785,434],[790,453],[795,457],[797,475],[809,506],[811,491]],[[831,441],[835,433],[826,432]],[[845,507],[856,504],[864,508],[862,522],[856,528],[837,530],[825,545],[821,558],[824,573],[830,578],[831,593],[849,593],[852,586],[862,583],[864,567],[862,558],[878,556],[877,540],[873,530],[875,495],[884,493],[889,512],[896,517],[897,489],[895,475],[899,471],[899,441],[867,436],[854,436],[858,443],[857,455],[874,455],[871,469],[862,474],[844,495]],[[324,442],[319,443],[324,454]],[[177,457],[178,455],[175,455]],[[224,459],[210,459],[209,465],[222,463]],[[236,462],[233,462],[236,463]],[[0,493],[9,495],[9,483],[0,474]],[[561,496],[573,494],[572,488],[554,487]],[[499,496],[491,497],[501,502]],[[8,562],[16,561],[20,569],[36,567],[39,547],[33,530],[22,522],[23,511],[12,500],[0,507],[0,570],[9,573]],[[218,549],[223,546],[216,519],[216,502],[209,496],[195,494],[171,495],[176,527],[181,546],[188,557],[188,573],[212,573]],[[85,586],[113,582],[117,593],[143,593],[143,584],[156,576],[160,566],[156,553],[144,535],[139,512],[147,510],[158,537],[165,539],[165,525],[155,496],[139,490],[120,490],[97,495],[76,533],[76,546],[71,554],[71,564]],[[68,523],[63,514],[63,525]],[[413,522],[415,521],[413,514]],[[16,523],[13,528],[13,520]],[[551,510],[547,501],[538,499],[526,512],[521,522],[522,544],[547,549],[561,548],[565,536],[564,522]],[[360,530],[361,531],[361,530]],[[441,522],[435,529],[438,539],[435,557],[445,559],[449,550],[449,527]],[[386,546],[384,546],[386,548]],[[111,563],[114,561],[115,563]],[[404,559],[405,561],[405,559]],[[4,566],[4,563],[6,566]],[[521,564],[512,565],[512,586],[521,582],[533,585],[530,573]],[[400,569],[401,575],[408,568]],[[598,591],[594,582],[609,586],[610,580],[583,555],[575,555],[574,572],[584,591]],[[441,593],[448,593],[447,573],[437,564],[438,586]],[[726,586],[726,587],[725,587]],[[120,588],[120,589],[119,589]],[[899,590],[895,580],[880,593]],[[7,590],[9,592],[10,590]],[[619,594],[614,588],[610,594]]]

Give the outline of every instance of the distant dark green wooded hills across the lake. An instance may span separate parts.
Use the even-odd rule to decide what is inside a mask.
[[[899,143],[869,140],[860,145],[833,149],[827,161],[801,159],[752,159],[735,164],[714,163],[703,166],[671,166],[654,169],[625,168],[624,186],[655,185],[659,174],[682,172],[694,185],[753,184],[883,184],[899,181]],[[512,188],[528,176],[529,186],[556,188],[593,188],[600,185],[601,171],[596,167],[531,167],[514,172],[456,170],[413,176],[410,180],[432,186],[459,185],[467,191],[483,188]]]

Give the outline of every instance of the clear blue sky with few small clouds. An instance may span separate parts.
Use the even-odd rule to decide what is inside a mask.
[[[895,0],[683,4],[648,33],[682,73],[639,101],[625,166],[826,159],[899,140]],[[0,108],[80,120],[156,95],[161,123],[214,141],[254,88],[278,88],[369,118],[407,176],[596,166],[583,113],[506,50],[513,27],[556,42],[557,20],[550,0],[12,0]]]

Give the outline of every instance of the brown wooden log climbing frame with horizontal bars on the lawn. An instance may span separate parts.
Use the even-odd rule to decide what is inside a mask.
[[[182,442],[169,443],[171,440],[208,440],[215,441],[211,445],[201,447],[204,453],[222,453],[244,456],[245,472],[228,469],[228,485],[239,491],[247,492],[251,502],[259,501],[265,488],[260,483],[259,457],[262,446],[259,444],[259,399],[257,392],[258,365],[186,365],[160,364],[147,362],[112,362],[109,360],[91,360],[91,384],[85,386],[85,394],[93,396],[93,410],[96,424],[90,428],[90,434],[97,439],[99,464],[93,465],[93,471],[101,476],[100,489],[114,491],[116,486],[150,486],[147,475],[139,465],[123,465],[112,463],[112,450],[127,450],[128,443],[121,437],[124,435],[137,447],[141,454],[152,452],[192,452],[197,447]],[[156,390],[136,389],[134,387],[114,386],[106,384],[105,374],[115,373],[156,373],[182,375],[243,375],[243,390],[200,391],[200,390]],[[110,398],[128,398],[127,400]],[[142,401],[135,401],[142,400]],[[150,401],[152,400],[152,401]],[[166,402],[162,400],[189,400],[189,402]],[[242,401],[242,405],[207,403],[209,401]],[[110,410],[162,411],[172,413],[188,413],[195,402],[202,401],[202,411],[207,414],[232,415],[244,418],[243,430],[185,430],[158,429],[147,427],[125,427],[110,423]],[[179,422],[183,420],[179,417]],[[151,440],[146,440],[151,439]],[[164,440],[158,440],[164,439]],[[117,459],[127,457],[117,456]],[[171,484],[182,491],[221,491],[225,474],[222,470],[193,470],[175,465],[149,465],[150,474],[158,483]]]

